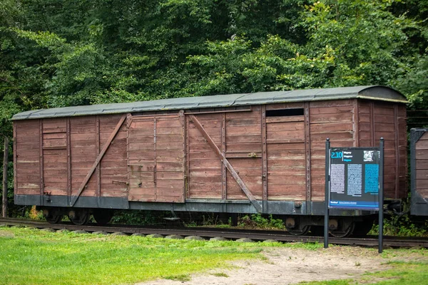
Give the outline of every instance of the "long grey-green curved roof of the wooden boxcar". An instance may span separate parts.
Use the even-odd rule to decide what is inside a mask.
[[[201,97],[171,98],[132,103],[113,103],[64,108],[30,110],[14,115],[12,120],[58,118],[79,115],[104,115],[135,113],[154,110],[182,110],[195,108],[222,108],[242,105],[305,102],[318,100],[369,99],[407,103],[397,90],[386,86],[354,86],[324,89],[270,91],[244,94],[211,95]]]

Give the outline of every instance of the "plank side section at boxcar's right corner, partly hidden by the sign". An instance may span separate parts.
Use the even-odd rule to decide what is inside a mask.
[[[325,197],[325,139],[331,147],[355,146],[354,101],[310,102],[310,177],[312,201]]]

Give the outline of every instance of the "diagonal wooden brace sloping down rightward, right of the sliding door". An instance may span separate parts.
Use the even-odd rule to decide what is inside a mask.
[[[215,152],[215,155],[217,155],[218,157],[220,157],[220,160],[223,162],[223,164],[225,165],[225,167],[229,170],[229,172],[232,175],[233,179],[236,180],[236,182],[238,183],[238,185],[240,186],[240,188],[243,190],[243,192],[245,193],[245,195],[248,197],[248,199],[250,199],[251,204],[253,204],[253,206],[255,207],[255,209],[257,210],[257,212],[259,212],[259,213],[263,212],[263,209],[262,209],[262,206],[260,205],[260,203],[255,199],[253,193],[251,193],[250,190],[248,190],[248,188],[245,185],[245,183],[243,182],[243,180],[240,179],[238,173],[235,171],[235,169],[232,167],[232,165],[230,165],[230,162],[228,161],[228,159],[223,155],[223,153],[220,151],[220,149],[218,148],[218,146],[215,145],[215,142],[210,137],[210,135],[208,135],[208,133],[205,131],[205,129],[203,128],[203,126],[200,124],[199,120],[194,115],[190,115],[189,118],[190,118],[190,120],[193,121],[193,123],[195,124],[196,128],[203,135],[203,138],[205,138],[205,140],[207,140],[207,142],[210,145],[210,147],[213,148],[213,150]]]

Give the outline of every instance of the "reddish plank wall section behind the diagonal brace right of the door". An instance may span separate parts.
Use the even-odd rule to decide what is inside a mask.
[[[253,107],[252,111],[195,116],[238,172],[248,190],[257,199],[262,199],[260,106]],[[188,160],[188,198],[248,199],[191,120],[188,120]]]

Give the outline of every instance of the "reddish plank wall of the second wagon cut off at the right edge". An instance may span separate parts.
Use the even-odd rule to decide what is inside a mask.
[[[428,199],[428,133],[416,142],[416,191]]]

